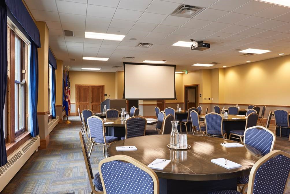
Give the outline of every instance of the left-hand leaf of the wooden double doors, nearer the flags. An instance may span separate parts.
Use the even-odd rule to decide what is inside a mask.
[[[77,108],[79,108],[80,111],[90,108],[89,99],[90,99],[89,86],[78,86],[77,85],[77,107],[76,107],[77,116],[79,115]]]

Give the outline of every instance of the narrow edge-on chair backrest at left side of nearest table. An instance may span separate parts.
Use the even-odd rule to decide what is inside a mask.
[[[94,193],[103,193],[103,192],[98,192],[95,190],[94,184],[93,184],[93,170],[92,170],[92,166],[90,164],[90,159],[88,157],[88,151],[87,151],[87,146],[86,146],[86,141],[84,139],[84,136],[81,134],[81,132],[79,132],[79,140],[81,141],[81,151],[83,152],[83,156],[84,156],[84,161],[86,164],[86,170],[88,173],[88,177],[89,177],[89,182],[90,182],[90,187],[92,189],[92,191]],[[96,187],[99,191],[103,191],[103,188],[100,187]]]

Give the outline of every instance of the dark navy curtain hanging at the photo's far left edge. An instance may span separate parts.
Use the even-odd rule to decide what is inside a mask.
[[[7,11],[5,2],[0,2],[0,166],[7,163],[3,132],[3,109],[7,87]]]

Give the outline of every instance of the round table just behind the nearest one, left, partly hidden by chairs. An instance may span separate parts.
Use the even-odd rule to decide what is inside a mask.
[[[107,128],[106,133],[109,136],[115,136],[118,137],[120,140],[121,137],[124,137],[126,135],[126,129],[125,129],[125,122],[121,121],[120,117],[116,118],[103,118],[104,125]],[[147,125],[154,125],[157,123],[157,119],[155,118],[146,118]]]

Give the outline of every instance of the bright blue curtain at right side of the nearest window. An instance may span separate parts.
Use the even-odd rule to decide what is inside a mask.
[[[30,82],[30,133],[32,137],[39,134],[38,120],[37,120],[37,102],[38,102],[38,46],[31,42],[30,45],[30,68],[29,68],[29,82]]]

